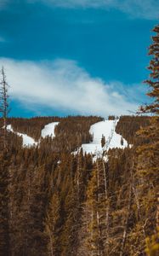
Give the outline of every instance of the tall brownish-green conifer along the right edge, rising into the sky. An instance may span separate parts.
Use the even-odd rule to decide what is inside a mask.
[[[151,102],[140,108],[141,113],[151,113],[150,125],[142,128],[138,136],[142,139],[142,144],[137,148],[137,172],[138,179],[138,198],[140,223],[144,226],[144,235],[150,236],[153,233],[159,219],[159,207],[157,198],[159,193],[159,25],[155,26],[153,32],[149,55],[150,60],[150,79],[145,80],[149,85],[147,96]],[[142,219],[141,219],[142,218]],[[143,242],[143,241],[142,241]],[[143,250],[144,250],[143,243]]]

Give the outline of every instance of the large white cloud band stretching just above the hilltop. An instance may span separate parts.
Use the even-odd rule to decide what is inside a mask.
[[[10,88],[10,96],[24,106],[36,104],[61,111],[107,116],[135,111],[136,103],[116,90],[118,83],[105,84],[92,78],[76,61],[14,61],[0,59]]]

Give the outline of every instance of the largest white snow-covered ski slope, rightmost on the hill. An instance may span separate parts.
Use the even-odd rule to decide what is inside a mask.
[[[101,156],[103,151],[108,151],[109,148],[128,147],[128,142],[115,131],[117,122],[118,120],[105,120],[91,125],[89,132],[94,136],[94,139],[92,143],[82,144],[83,152]],[[105,137],[103,148],[101,146],[102,135]]]

